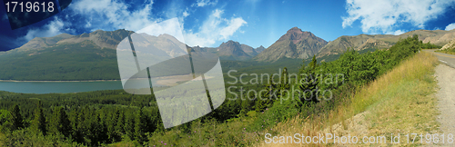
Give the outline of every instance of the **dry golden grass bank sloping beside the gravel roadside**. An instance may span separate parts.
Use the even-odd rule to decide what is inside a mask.
[[[390,144],[390,133],[434,133],[437,130],[436,100],[431,93],[436,92],[432,76],[438,63],[429,53],[416,54],[403,61],[389,73],[380,76],[349,97],[349,104],[339,105],[330,113],[315,117],[300,118],[280,122],[274,136],[293,136],[295,133],[317,136],[319,133],[337,133],[338,136],[378,136],[387,137],[381,144],[293,144],[265,143],[258,146],[395,146],[417,145],[401,137],[399,144]],[[264,136],[262,136],[264,137]],[[330,140],[329,140],[330,141]],[[333,142],[333,140],[332,140]],[[361,142],[361,139],[359,139]]]

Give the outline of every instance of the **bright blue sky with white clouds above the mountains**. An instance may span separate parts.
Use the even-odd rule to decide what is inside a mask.
[[[62,12],[12,30],[0,5],[0,51],[35,37],[126,29],[177,18],[186,44],[234,40],[266,48],[297,26],[326,41],[341,35],[403,34],[455,28],[455,0],[73,0]]]

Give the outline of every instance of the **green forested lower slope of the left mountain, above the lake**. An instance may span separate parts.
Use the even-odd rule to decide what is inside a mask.
[[[100,49],[90,41],[42,50],[12,51],[1,54],[0,63],[2,80],[114,80],[120,77],[116,50]]]

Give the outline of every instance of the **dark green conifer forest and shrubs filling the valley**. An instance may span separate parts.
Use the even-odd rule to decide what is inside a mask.
[[[0,130],[5,134],[5,140],[0,142],[25,146],[254,145],[263,142],[262,136],[266,132],[278,133],[279,130],[274,130],[278,123],[296,116],[314,118],[349,103],[347,97],[353,92],[388,73],[422,48],[426,48],[426,44],[415,35],[400,40],[389,50],[365,54],[349,50],[329,63],[319,64],[315,57],[307,61],[308,64],[303,64],[305,60],[301,59],[281,59],[273,64],[228,61],[223,72],[236,69],[238,72],[233,75],[238,77],[240,73],[278,73],[281,70],[278,77],[281,82],[231,84],[233,79],[225,74],[227,89],[241,86],[243,90],[233,88],[238,91],[228,92],[225,103],[214,112],[169,129],[163,128],[154,95],[135,95],[123,90],[47,94],[0,92]],[[109,55],[108,52],[104,54]],[[288,80],[292,73],[298,73],[298,82]],[[301,76],[302,73],[344,76],[340,81],[327,84],[329,76],[313,79]],[[308,80],[312,84],[302,83]],[[250,90],[290,92],[294,88],[303,93],[248,93]],[[321,99],[323,93],[308,93],[315,90],[329,90],[332,97],[325,100]],[[235,95],[247,97],[236,98]],[[253,99],[249,101],[248,98]]]

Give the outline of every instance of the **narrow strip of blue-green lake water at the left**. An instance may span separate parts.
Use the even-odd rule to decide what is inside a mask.
[[[123,89],[121,81],[0,82],[0,91],[13,93],[79,93]]]

